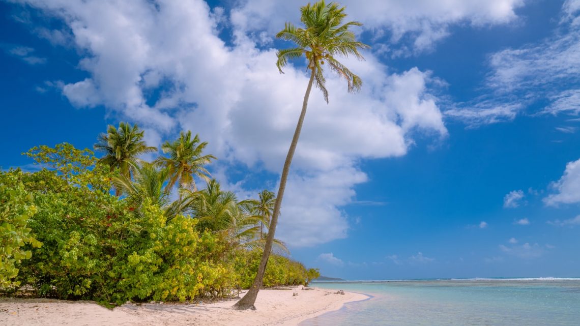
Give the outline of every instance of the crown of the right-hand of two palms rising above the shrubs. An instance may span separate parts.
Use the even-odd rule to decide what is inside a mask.
[[[179,139],[174,142],[168,141],[161,146],[163,153],[169,153],[169,157],[160,157],[154,163],[168,170],[170,177],[167,189],[171,190],[177,183],[179,187],[197,191],[194,176],[209,182],[210,175],[204,165],[209,164],[212,159],[216,160],[216,157],[202,155],[207,144],[200,143],[198,135],[191,139],[191,131],[188,131],[181,132]]]

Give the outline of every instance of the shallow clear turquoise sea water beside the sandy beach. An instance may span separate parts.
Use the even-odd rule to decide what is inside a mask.
[[[372,295],[300,326],[580,326],[580,279],[320,282]]]

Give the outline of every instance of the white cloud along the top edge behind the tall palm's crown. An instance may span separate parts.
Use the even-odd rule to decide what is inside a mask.
[[[447,37],[454,24],[474,27],[506,24],[517,19],[515,10],[524,0],[371,0],[364,4],[343,0],[349,18],[361,21],[375,37],[388,31],[386,44],[400,45],[396,52],[414,53],[431,49],[437,41]],[[234,24],[252,31],[256,38],[260,31],[270,34],[280,30],[285,21],[298,21],[298,4],[282,0],[242,1],[232,13]],[[405,42],[408,39],[407,42]],[[388,46],[387,46],[388,47]],[[396,54],[396,52],[394,54]]]

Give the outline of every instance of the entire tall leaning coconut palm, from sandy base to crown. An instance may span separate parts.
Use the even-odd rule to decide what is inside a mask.
[[[357,21],[343,23],[346,17],[345,8],[340,7],[338,3],[331,2],[327,4],[324,0],[318,1],[313,5],[309,3],[303,6],[300,8],[300,12],[300,21],[302,21],[304,27],[297,28],[292,23],[286,23],[284,29],[276,35],[277,38],[296,44],[294,48],[278,50],[276,66],[280,70],[280,73],[283,73],[282,68],[287,66],[289,60],[306,57],[307,69],[310,71],[310,80],[306,88],[306,94],[304,95],[302,112],[300,112],[296,131],[294,132],[292,143],[288,150],[286,161],[284,162],[284,168],[282,169],[280,188],[276,196],[274,212],[271,216],[270,228],[268,230],[266,244],[264,245],[262,260],[260,260],[260,265],[258,266],[258,273],[248,293],[234,305],[236,309],[255,309],[254,303],[256,302],[258,291],[262,287],[262,280],[272,249],[274,233],[276,233],[276,224],[278,222],[278,215],[280,215],[280,206],[282,204],[282,197],[284,196],[290,164],[294,151],[296,150],[296,144],[298,144],[300,130],[302,129],[302,123],[306,115],[308,97],[310,96],[310,90],[313,84],[316,84],[317,88],[322,91],[322,95],[324,95],[324,99],[328,103],[328,90],[325,87],[324,69],[322,67],[327,63],[330,70],[337,73],[340,77],[345,78],[350,93],[356,92],[362,85],[362,81],[357,75],[353,74],[346,66],[335,59],[335,56],[354,56],[360,60],[364,59],[358,53],[358,49],[368,48],[368,45],[357,42],[353,32],[349,30],[350,27],[361,26],[362,24]]]

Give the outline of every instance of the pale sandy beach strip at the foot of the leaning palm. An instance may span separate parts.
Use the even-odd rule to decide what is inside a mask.
[[[293,293],[298,293],[293,296]],[[147,325],[298,325],[301,321],[332,310],[346,302],[367,296],[352,292],[344,295],[327,289],[262,290],[255,311],[231,309],[235,300],[208,305],[160,304],[123,305],[114,310],[94,302],[50,299],[0,298],[0,325],[147,326]]]

